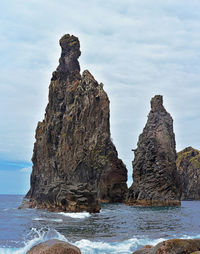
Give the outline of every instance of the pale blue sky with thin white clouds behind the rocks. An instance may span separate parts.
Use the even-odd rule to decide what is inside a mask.
[[[163,95],[176,149],[200,147],[199,0],[9,0],[0,8],[0,193],[29,188],[35,128],[44,117],[58,41],[79,37],[110,99],[111,136],[131,183],[133,152]]]

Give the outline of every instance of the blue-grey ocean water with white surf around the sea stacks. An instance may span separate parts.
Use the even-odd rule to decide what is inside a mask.
[[[70,242],[83,254],[128,254],[170,238],[200,238],[200,202],[136,208],[105,204],[99,214],[18,209],[23,196],[0,195],[0,254],[25,254],[48,239]]]

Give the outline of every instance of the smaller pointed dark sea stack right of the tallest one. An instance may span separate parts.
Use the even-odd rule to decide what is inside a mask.
[[[126,203],[141,206],[180,205],[173,120],[162,96],[151,100],[148,121],[139,137],[133,161],[133,184]]]

